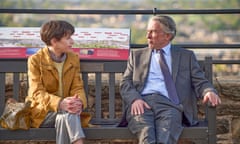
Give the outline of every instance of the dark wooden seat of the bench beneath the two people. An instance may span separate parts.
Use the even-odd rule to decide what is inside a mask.
[[[205,139],[208,135],[206,122],[198,126],[185,127],[181,138]],[[87,139],[136,139],[127,127],[115,125],[97,125],[84,128]],[[0,128],[0,140],[55,140],[54,128],[31,128],[29,130],[7,130]]]

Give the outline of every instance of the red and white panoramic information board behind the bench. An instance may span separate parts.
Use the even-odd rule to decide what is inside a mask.
[[[27,58],[45,45],[39,28],[0,28],[0,58]],[[81,59],[126,60],[129,54],[130,30],[76,28],[73,51]]]

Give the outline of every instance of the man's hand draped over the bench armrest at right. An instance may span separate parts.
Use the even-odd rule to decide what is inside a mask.
[[[206,95],[203,97],[204,104],[207,103],[208,101],[212,104],[212,106],[217,106],[221,104],[221,99],[214,92],[207,92]]]

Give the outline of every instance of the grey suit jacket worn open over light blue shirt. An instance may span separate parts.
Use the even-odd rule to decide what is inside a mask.
[[[120,83],[120,93],[129,108],[135,99],[141,99],[150,67],[152,50],[150,48],[132,49],[126,71]],[[204,77],[193,51],[171,46],[172,77],[176,85],[180,103],[183,105],[186,125],[197,124],[197,98],[208,91],[216,90]]]

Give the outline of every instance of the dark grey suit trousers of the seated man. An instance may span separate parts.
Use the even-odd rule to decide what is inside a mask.
[[[131,108],[127,110],[128,127],[138,136],[139,144],[176,144],[183,130],[182,106],[158,94],[143,100],[151,107],[144,114],[133,116]]]

